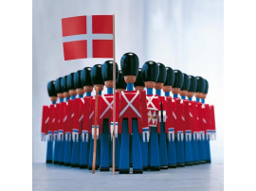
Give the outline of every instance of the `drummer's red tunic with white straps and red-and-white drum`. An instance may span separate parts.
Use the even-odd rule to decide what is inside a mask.
[[[148,124],[150,131],[152,127],[157,127],[157,132],[160,133],[160,124],[158,119],[160,108],[158,95],[147,95],[147,112],[148,112]]]

